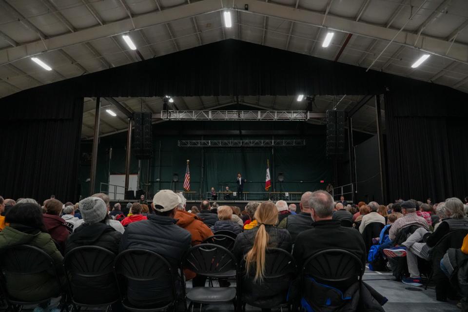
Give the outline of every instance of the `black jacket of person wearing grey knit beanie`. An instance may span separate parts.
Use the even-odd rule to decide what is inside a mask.
[[[83,223],[68,236],[65,252],[69,253],[79,246],[91,245],[105,248],[117,255],[121,237],[120,232],[104,223]],[[99,261],[99,259],[95,259],[95,261]],[[89,304],[116,300],[118,298],[118,288],[113,275],[109,274],[97,278],[72,276],[74,299]],[[96,295],[97,292],[99,296]]]

